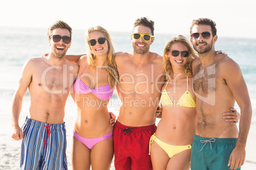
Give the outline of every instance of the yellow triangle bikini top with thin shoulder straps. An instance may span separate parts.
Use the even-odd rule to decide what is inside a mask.
[[[166,87],[169,81],[166,83]],[[196,107],[196,102],[191,95],[190,91],[188,90],[188,77],[187,77],[187,91],[183,93],[183,95],[180,97],[180,100],[178,100],[178,103],[173,103],[171,101],[171,98],[169,97],[166,88],[162,91],[162,95],[160,98],[160,102],[163,106],[170,106],[170,105],[178,105],[182,107]]]

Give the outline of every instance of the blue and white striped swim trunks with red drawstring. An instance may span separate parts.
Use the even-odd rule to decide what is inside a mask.
[[[68,169],[66,128],[26,118],[20,142],[20,169]]]

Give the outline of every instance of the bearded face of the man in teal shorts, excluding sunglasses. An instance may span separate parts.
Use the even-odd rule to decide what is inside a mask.
[[[209,39],[204,39],[202,32],[210,32]],[[190,38],[190,42],[197,53],[207,53],[213,48],[213,44],[217,41],[217,36],[213,37],[210,25],[194,25],[192,33],[199,33],[200,36],[197,39]],[[214,49],[213,49],[214,50]]]

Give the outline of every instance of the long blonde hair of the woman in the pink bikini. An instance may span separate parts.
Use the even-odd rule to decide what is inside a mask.
[[[108,72],[108,82],[110,86],[114,88],[119,82],[117,64],[115,63],[115,58],[114,58],[115,50],[113,47],[110,34],[106,29],[104,29],[99,25],[97,25],[96,27],[90,27],[90,29],[88,29],[87,36],[85,36],[85,44],[87,46],[87,63],[90,67],[96,68],[96,65],[95,65],[96,56],[92,54],[92,48],[90,47],[90,44],[89,44],[89,36],[94,31],[99,31],[103,33],[104,37],[106,38],[106,41],[108,42],[108,53],[107,53],[107,60],[106,60],[105,66]]]

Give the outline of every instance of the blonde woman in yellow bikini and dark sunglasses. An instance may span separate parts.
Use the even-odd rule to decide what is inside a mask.
[[[174,37],[164,48],[162,119],[150,139],[153,169],[190,169],[196,119],[191,65],[196,57],[184,36]]]

